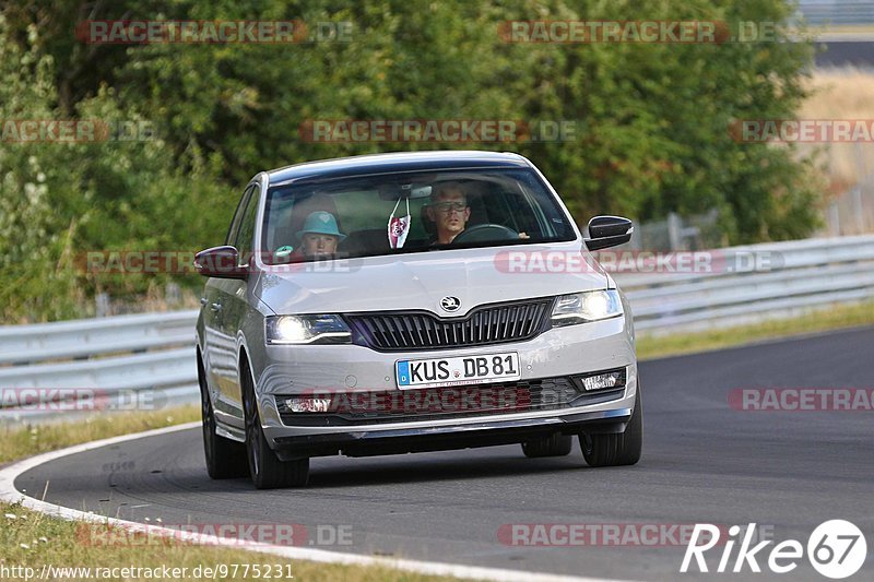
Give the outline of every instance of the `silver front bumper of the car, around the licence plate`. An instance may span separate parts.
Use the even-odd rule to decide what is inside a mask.
[[[276,403],[277,399],[316,391],[397,391],[394,364],[400,359],[507,351],[519,354],[522,382],[625,367],[626,385],[604,397],[578,399],[572,405],[555,409],[408,416],[359,424],[309,420],[293,424],[287,411],[282,414]],[[637,393],[634,337],[625,317],[553,329],[525,342],[498,346],[385,354],[356,345],[271,345],[267,346],[265,356],[265,366],[257,379],[262,428],[268,442],[284,459],[339,452],[357,456],[483,447],[521,442],[553,432],[622,431]]]

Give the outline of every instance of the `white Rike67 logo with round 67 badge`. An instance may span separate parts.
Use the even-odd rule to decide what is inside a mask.
[[[720,573],[761,572],[761,560],[771,572],[784,574],[798,568],[799,561],[804,558],[805,547],[796,539],[780,542],[770,551],[766,548],[773,544],[772,539],[752,545],[756,533],[755,523],[748,524],[745,531],[740,525],[732,525],[727,539],[720,538],[723,532],[724,528],[709,523],[696,523],[680,571],[688,572],[694,559],[698,571],[709,572],[712,561],[708,566],[705,554],[718,545],[722,547],[722,553],[714,571]],[[739,542],[737,553],[732,556]],[[854,524],[845,520],[829,520],[820,523],[807,538],[806,554],[817,572],[826,578],[840,580],[862,568],[867,557],[867,544],[862,531]]]

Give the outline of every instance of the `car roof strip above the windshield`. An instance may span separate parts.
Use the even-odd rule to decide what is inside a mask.
[[[363,174],[459,169],[482,167],[529,167],[519,154],[476,151],[404,152],[373,154],[295,164],[268,171],[270,186],[304,178],[340,178]]]

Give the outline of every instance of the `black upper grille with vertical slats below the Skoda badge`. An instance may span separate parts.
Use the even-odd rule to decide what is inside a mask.
[[[346,316],[356,343],[399,352],[465,347],[530,340],[543,331],[553,298],[474,308],[463,318],[441,319],[427,311]]]

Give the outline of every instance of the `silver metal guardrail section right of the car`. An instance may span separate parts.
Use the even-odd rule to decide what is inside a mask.
[[[635,330],[663,335],[789,317],[874,298],[874,236],[769,242],[709,251],[727,269],[700,273],[616,273]],[[733,259],[764,270],[731,270]]]

